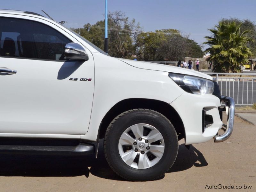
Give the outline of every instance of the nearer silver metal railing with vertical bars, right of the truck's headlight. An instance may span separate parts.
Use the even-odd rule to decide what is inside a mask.
[[[205,73],[216,78],[220,94],[232,97],[236,105],[256,103],[255,73]],[[228,76],[222,76],[228,75]],[[247,77],[242,77],[247,76]],[[249,77],[248,77],[249,76]]]

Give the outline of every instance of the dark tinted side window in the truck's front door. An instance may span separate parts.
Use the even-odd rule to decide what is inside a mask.
[[[42,23],[0,17],[1,57],[60,60],[68,43],[67,37]]]

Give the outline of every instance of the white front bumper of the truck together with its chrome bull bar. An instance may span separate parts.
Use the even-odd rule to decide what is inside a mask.
[[[223,125],[221,101],[226,102],[228,107],[228,125]],[[215,142],[222,142],[231,135],[234,124],[234,100],[225,96],[217,97],[211,94],[196,95],[184,92],[170,105],[179,114],[185,131],[185,145],[204,143],[212,138]],[[220,110],[221,109],[221,113]],[[224,109],[226,109],[224,107]],[[212,116],[213,123],[207,124],[202,130],[202,111],[206,115]],[[226,126],[226,127],[225,127]],[[225,133],[217,135],[220,129],[225,129]]]

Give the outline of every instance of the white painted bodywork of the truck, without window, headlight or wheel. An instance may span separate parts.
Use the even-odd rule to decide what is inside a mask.
[[[222,127],[220,99],[212,94],[185,92],[168,73],[211,76],[193,70],[117,59],[104,55],[55,21],[23,12],[0,11],[0,18],[33,20],[54,28],[80,44],[89,60],[76,63],[0,57],[0,68],[17,74],[0,76],[0,137],[62,138],[98,141],[100,124],[118,102],[131,99],[158,100],[179,114],[185,129],[185,144],[206,142]],[[60,70],[73,73],[59,77]],[[69,78],[92,81],[68,81]],[[214,123],[202,133],[202,109]]]

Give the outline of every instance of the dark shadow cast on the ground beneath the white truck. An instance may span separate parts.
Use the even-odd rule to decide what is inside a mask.
[[[188,150],[184,145],[179,145],[176,161],[168,172],[183,171],[193,165],[206,166],[207,162],[202,153],[195,147],[191,146]],[[89,177],[90,173],[104,179],[123,180],[108,166],[102,148],[100,148],[97,159],[94,158],[94,155],[0,155],[0,176],[74,177],[84,175]]]

